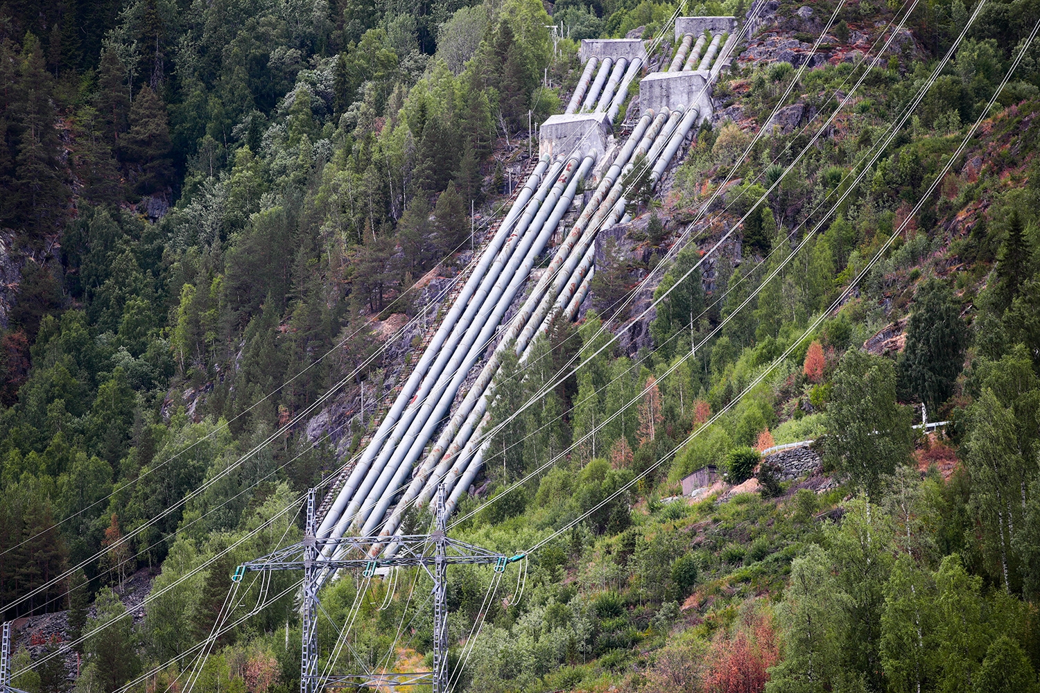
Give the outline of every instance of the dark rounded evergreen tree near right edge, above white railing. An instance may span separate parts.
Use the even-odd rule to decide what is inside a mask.
[[[939,405],[954,394],[964,366],[967,329],[953,292],[939,281],[926,282],[915,298],[906,348],[900,356],[900,376],[902,384],[937,415]]]

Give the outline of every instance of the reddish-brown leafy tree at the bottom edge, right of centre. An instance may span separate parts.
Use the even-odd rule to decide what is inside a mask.
[[[709,693],[761,693],[770,679],[769,668],[777,663],[773,619],[751,609],[740,619],[736,633],[720,633],[705,658],[704,690]]]

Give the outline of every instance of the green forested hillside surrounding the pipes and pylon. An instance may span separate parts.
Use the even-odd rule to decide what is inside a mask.
[[[450,532],[537,550],[452,568],[456,685],[1040,690],[1040,4],[974,2],[0,2],[11,685],[298,689],[298,576],[235,567],[379,423],[579,42],[667,64],[681,12],[758,33],[499,372]],[[430,586],[328,585],[321,666],[428,668]]]

